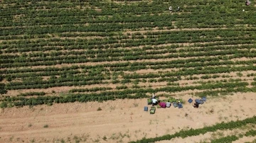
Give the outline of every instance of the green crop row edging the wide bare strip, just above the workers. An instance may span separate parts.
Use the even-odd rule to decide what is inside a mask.
[[[42,105],[53,103],[68,103],[68,102],[90,102],[90,101],[107,101],[114,100],[116,98],[146,98],[147,93],[167,92],[175,93],[178,91],[188,90],[205,90],[205,89],[218,89],[225,88],[230,91],[244,92],[255,91],[255,88],[246,88],[248,84],[246,82],[234,82],[234,83],[217,83],[217,84],[203,84],[201,86],[166,86],[164,88],[134,88],[124,89],[119,91],[101,91],[100,93],[68,93],[62,96],[37,96],[25,98],[22,96],[4,96],[1,98],[1,104],[10,106],[23,106],[23,105]],[[100,89],[100,88],[99,88]],[[82,89],[81,89],[82,90]],[[77,90],[79,91],[79,90]],[[28,93],[32,94],[32,93]],[[38,94],[38,93],[36,93]]]

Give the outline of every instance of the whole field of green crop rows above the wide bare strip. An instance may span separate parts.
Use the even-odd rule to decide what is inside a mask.
[[[233,0],[118,1],[3,1],[0,94],[22,93],[1,106],[256,92],[255,74],[240,78],[256,71],[255,6],[242,13]],[[65,96],[24,93],[61,86],[70,88]]]

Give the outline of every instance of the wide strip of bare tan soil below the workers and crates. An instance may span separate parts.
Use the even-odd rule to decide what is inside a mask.
[[[10,142],[10,139],[11,142],[16,139],[23,142],[53,142],[56,139],[68,142],[70,139],[75,142],[74,138],[82,135],[87,136],[86,142],[129,142],[142,137],[174,134],[188,127],[201,128],[217,122],[250,118],[256,113],[255,102],[251,102],[256,101],[254,94],[209,97],[198,109],[184,103],[181,109],[173,106],[157,108],[154,115],[143,111],[146,99],[5,108],[0,114],[0,142]],[[191,96],[176,98],[187,101]],[[99,108],[102,110],[97,111]],[[211,109],[213,112],[208,113]]]

